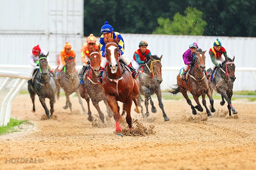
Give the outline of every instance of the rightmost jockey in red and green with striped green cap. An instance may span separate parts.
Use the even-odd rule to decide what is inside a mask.
[[[211,77],[215,67],[220,68],[221,64],[225,61],[225,57],[222,54],[225,57],[228,57],[227,51],[224,49],[224,47],[221,46],[219,39],[216,39],[216,41],[213,43],[213,46],[209,50],[209,55],[211,56],[213,65],[212,68],[207,70],[208,77]]]

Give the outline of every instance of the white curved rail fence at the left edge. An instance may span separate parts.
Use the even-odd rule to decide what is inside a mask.
[[[32,78],[31,74],[0,70],[0,77],[6,77],[0,86],[0,127],[10,122],[12,103],[25,83]],[[17,79],[13,86],[6,89],[12,79]]]

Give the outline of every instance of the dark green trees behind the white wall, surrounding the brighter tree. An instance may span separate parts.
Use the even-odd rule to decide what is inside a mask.
[[[202,12],[202,15],[196,12],[195,16],[200,17],[187,20],[188,9]],[[202,35],[203,27],[206,36],[256,37],[256,1],[85,1],[84,35],[100,36],[105,21],[120,33]]]

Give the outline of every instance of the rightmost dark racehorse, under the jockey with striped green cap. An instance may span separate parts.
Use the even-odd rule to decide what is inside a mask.
[[[231,104],[231,97],[233,96],[233,85],[235,81],[235,56],[231,60],[225,57],[225,61],[222,63],[221,68],[215,69],[212,76],[209,78],[209,85],[211,92],[213,89],[221,94],[222,101],[220,105],[225,104],[225,100],[228,102],[229,116],[231,116],[231,110],[233,114],[238,112],[234,109]],[[225,98],[225,100],[224,100]]]

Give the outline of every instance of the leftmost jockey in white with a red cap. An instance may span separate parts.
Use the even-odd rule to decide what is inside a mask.
[[[29,54],[28,54],[28,60],[29,60],[29,62],[30,62],[30,65],[31,65],[31,70],[30,70],[30,74],[34,74],[34,71],[35,71],[35,69],[36,69],[36,66],[38,66],[37,65],[37,63],[36,63],[36,61],[39,61],[39,55],[41,55],[41,54],[43,54],[43,55],[47,55],[47,53],[43,50],[43,49],[41,49],[40,47],[39,47],[39,45],[37,45],[37,46],[35,46],[30,52],[29,52]],[[47,56],[47,62],[48,62],[48,68],[49,68],[49,71],[50,71],[50,73],[53,73],[53,68],[52,68],[52,66],[49,64],[49,57]],[[31,80],[29,80],[28,81],[28,86],[31,86],[32,85],[32,82],[31,82]]]

